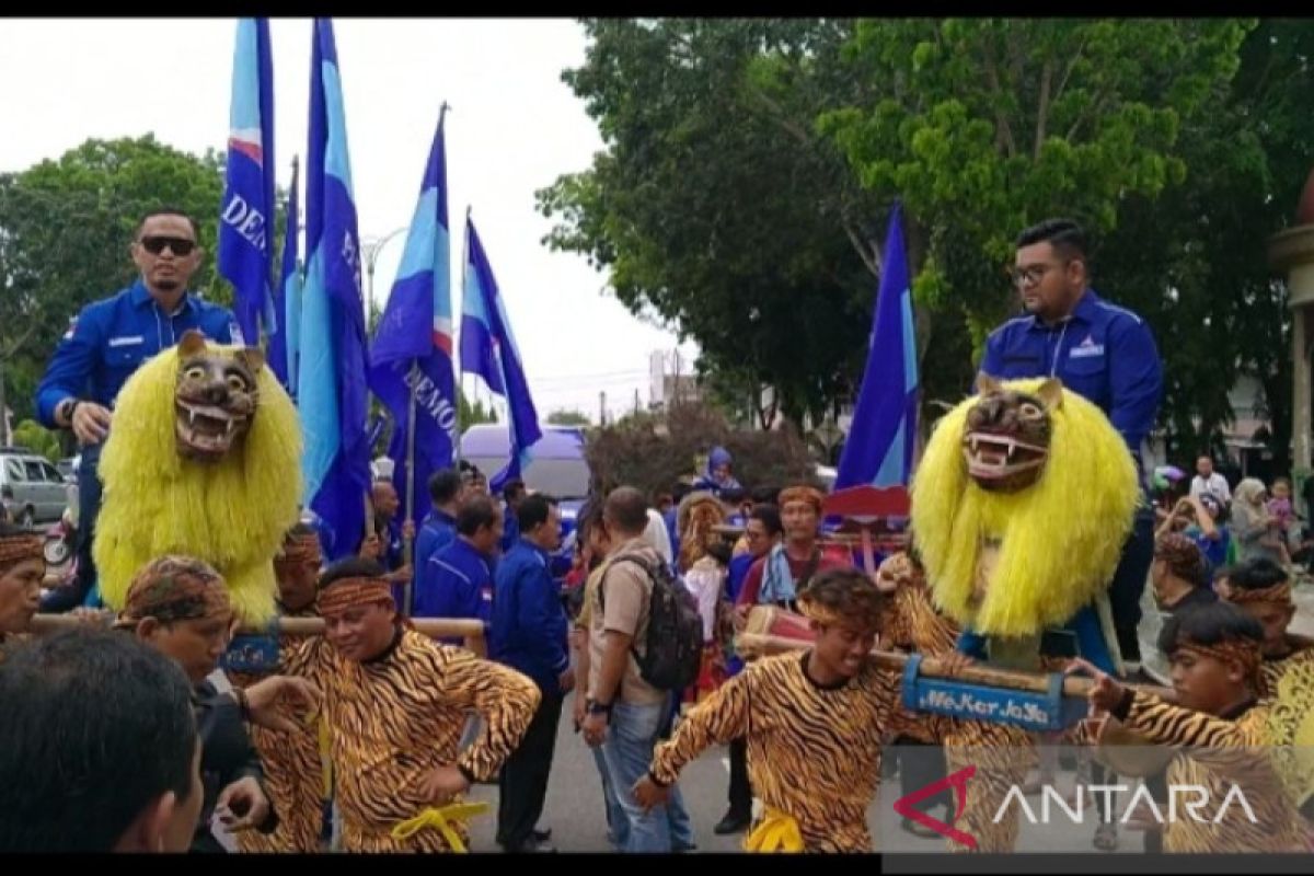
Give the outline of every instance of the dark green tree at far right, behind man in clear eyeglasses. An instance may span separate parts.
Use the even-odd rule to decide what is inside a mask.
[[[1226,390],[1248,374],[1263,398],[1242,415],[1269,419],[1273,473],[1289,470],[1290,315],[1267,246],[1292,223],[1314,167],[1311,56],[1314,22],[1260,22],[1226,96],[1183,127],[1185,183],[1154,200],[1127,198],[1096,264],[1099,281],[1159,338],[1163,426],[1176,460],[1223,449],[1234,418]]]

